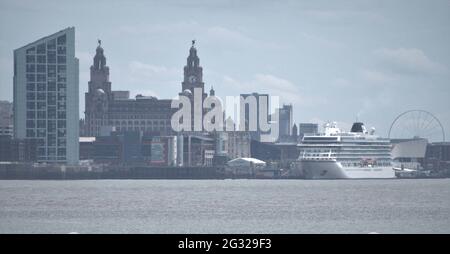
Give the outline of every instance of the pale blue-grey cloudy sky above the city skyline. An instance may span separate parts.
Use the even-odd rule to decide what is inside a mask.
[[[0,1],[0,100],[13,97],[13,50],[69,26],[80,112],[102,46],[114,90],[173,98],[197,40],[207,90],[270,93],[295,122],[356,120],[380,135],[424,109],[450,131],[450,1]],[[84,117],[84,114],[80,114]]]

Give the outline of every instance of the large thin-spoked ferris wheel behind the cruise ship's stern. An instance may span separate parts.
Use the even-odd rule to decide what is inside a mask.
[[[398,115],[389,128],[390,139],[426,138],[444,142],[444,127],[437,117],[425,110],[408,110]]]

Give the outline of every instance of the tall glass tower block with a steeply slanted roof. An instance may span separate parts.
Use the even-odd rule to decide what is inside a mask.
[[[39,162],[78,163],[78,96],[74,27],[14,50],[14,136],[37,140]]]

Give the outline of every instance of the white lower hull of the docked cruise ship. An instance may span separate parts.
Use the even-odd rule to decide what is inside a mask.
[[[336,161],[300,161],[306,179],[381,179],[395,178],[395,171],[386,167],[342,167]]]

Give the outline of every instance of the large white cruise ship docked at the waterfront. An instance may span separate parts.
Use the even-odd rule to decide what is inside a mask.
[[[323,134],[305,135],[298,144],[299,166],[305,178],[395,178],[390,140],[374,132],[369,133],[359,122],[350,132],[327,123]]]

